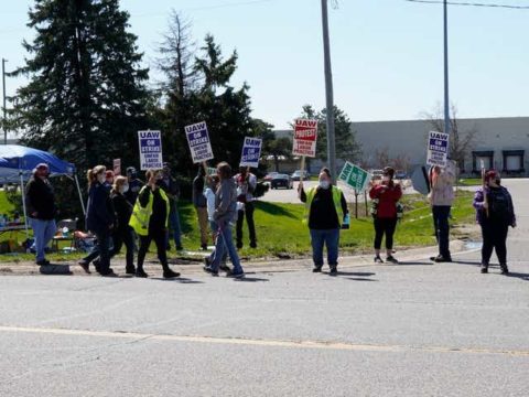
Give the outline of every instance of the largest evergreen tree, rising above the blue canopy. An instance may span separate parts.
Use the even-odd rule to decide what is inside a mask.
[[[112,158],[138,162],[147,127],[148,69],[118,0],[35,0],[30,57],[15,75],[12,120],[29,146],[53,150],[85,170]]]

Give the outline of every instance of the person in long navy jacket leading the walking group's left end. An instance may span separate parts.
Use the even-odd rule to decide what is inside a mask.
[[[97,254],[99,262],[96,270],[101,276],[116,277],[110,268],[110,254],[108,243],[110,234],[116,224],[110,192],[105,185],[105,165],[97,165],[88,171],[88,205],[86,208],[86,228],[95,234],[97,238]],[[87,257],[88,258],[88,257]],[[88,261],[85,258],[79,265],[88,270]],[[93,259],[93,258],[90,258]]]

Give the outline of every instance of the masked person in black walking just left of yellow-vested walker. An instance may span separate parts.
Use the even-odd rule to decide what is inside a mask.
[[[132,215],[132,205],[128,202],[125,194],[129,191],[127,178],[117,176],[110,192],[114,210],[116,211],[117,226],[112,234],[114,248],[110,251],[110,258],[114,258],[125,244],[127,248],[126,268],[127,275],[136,275],[134,267],[134,236],[132,228],[129,226],[130,216]]]

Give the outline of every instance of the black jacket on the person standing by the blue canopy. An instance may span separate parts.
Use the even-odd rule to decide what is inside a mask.
[[[32,176],[28,183],[25,204],[28,206],[28,215],[35,219],[51,221],[57,212],[55,194],[50,182],[43,181],[37,176]],[[33,213],[36,213],[36,215],[33,216]]]

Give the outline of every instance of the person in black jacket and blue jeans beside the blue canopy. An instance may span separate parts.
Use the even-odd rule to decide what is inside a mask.
[[[55,195],[47,181],[50,169],[41,163],[33,170],[33,176],[28,183],[25,203],[30,216],[36,247],[36,265],[50,265],[45,258],[45,248],[56,232],[55,224]]]

